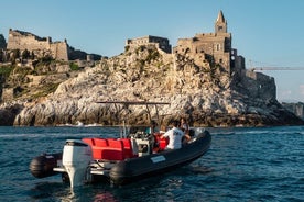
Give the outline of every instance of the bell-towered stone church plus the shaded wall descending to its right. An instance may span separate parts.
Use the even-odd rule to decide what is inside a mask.
[[[206,64],[220,66],[235,83],[241,82],[250,97],[271,100],[276,98],[274,79],[261,72],[246,69],[245,58],[231,46],[232,36],[228,33],[227,20],[221,11],[215,21],[214,33],[199,33],[191,38],[180,38],[173,53],[185,55],[198,66]]]

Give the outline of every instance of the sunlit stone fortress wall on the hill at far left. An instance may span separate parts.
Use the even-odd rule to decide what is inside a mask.
[[[52,56],[58,60],[68,60],[68,44],[64,42],[52,42],[51,37],[39,37],[29,32],[18,30],[9,31],[8,50],[28,49],[37,56]]]

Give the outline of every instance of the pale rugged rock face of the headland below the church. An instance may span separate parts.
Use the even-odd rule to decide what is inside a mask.
[[[77,77],[62,82],[44,100],[28,103],[14,125],[148,124],[145,106],[100,104],[100,100],[160,101],[150,106],[152,119],[167,124],[184,116],[194,126],[262,126],[303,124],[275,98],[252,94],[248,80],[221,71],[220,67],[197,66],[191,58],[165,54],[155,46],[140,46],[102,59]],[[250,88],[254,86],[250,85]],[[273,80],[274,82],[274,80]]]

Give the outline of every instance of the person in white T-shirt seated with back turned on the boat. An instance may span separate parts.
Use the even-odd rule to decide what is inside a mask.
[[[161,138],[169,137],[169,144],[165,149],[177,149],[182,147],[182,138],[185,134],[178,126],[180,122],[175,120],[173,127],[161,136]]]

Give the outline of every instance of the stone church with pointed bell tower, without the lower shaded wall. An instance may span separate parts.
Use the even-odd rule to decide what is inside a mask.
[[[231,48],[231,33],[227,32],[227,21],[221,11],[215,22],[215,33],[199,33],[192,38],[180,38],[173,52],[186,54],[196,59],[197,65],[208,60],[224,67],[228,74],[236,68],[245,68],[245,59]]]

